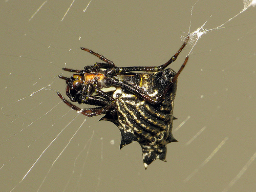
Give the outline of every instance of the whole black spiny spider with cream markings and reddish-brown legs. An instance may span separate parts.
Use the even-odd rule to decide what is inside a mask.
[[[122,137],[120,149],[137,141],[142,147],[145,168],[156,159],[165,161],[166,144],[177,141],[172,134],[173,119],[176,119],[174,98],[177,78],[188,56],[177,73],[165,68],[177,59],[188,40],[189,36],[181,48],[158,67],[116,67],[103,55],[81,47],[104,62],[96,62],[83,70],[63,68],[74,74],[59,78],[66,80],[70,101],[97,107],[81,109],[59,92],[57,94],[73,110],[87,117],[104,114],[100,120],[116,124]]]

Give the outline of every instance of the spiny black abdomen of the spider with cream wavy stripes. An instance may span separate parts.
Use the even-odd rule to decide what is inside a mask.
[[[157,73],[162,74],[162,71]],[[159,78],[157,73],[136,74],[141,78],[140,81],[135,78],[136,82],[133,84],[138,89],[157,96],[161,89],[159,86],[154,87],[154,78]],[[145,168],[155,159],[165,161],[166,144],[177,141],[172,135],[173,99],[176,93],[176,83],[173,86],[162,102],[157,105],[152,105],[120,87],[113,93],[117,105],[116,124],[122,135],[120,148],[133,141],[139,142],[142,147]]]

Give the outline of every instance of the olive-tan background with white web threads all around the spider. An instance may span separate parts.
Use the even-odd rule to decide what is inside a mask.
[[[255,190],[253,5],[1,2],[1,191]],[[60,101],[57,76],[98,61],[81,46],[117,66],[161,65],[188,31],[191,45],[171,66],[189,54],[175,100],[179,142],[145,171],[138,143],[119,151],[114,124]]]

